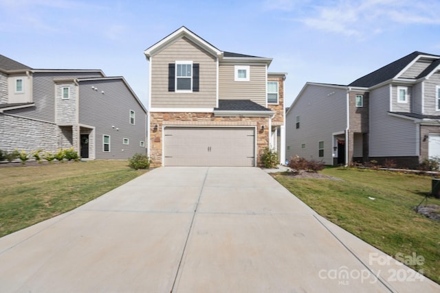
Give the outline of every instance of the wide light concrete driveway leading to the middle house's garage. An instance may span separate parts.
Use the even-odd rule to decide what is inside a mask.
[[[162,167],[0,238],[0,292],[439,292],[253,167]]]

